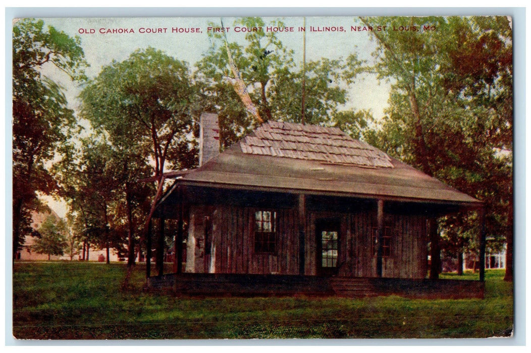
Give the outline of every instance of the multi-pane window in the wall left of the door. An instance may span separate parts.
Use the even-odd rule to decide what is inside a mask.
[[[269,221],[264,220],[263,214],[270,212]],[[261,214],[261,219],[258,219],[258,213]],[[277,233],[278,233],[278,212],[271,209],[256,209],[253,212],[253,253],[258,255],[276,255],[277,254]],[[258,227],[258,222],[262,225]],[[271,231],[264,231],[264,223],[268,223]],[[261,228],[261,229],[258,229]],[[261,246],[257,246],[261,244]],[[272,244],[272,249],[271,249]]]

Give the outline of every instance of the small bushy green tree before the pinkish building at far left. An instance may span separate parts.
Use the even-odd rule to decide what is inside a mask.
[[[63,220],[48,216],[39,227],[40,237],[35,239],[31,249],[39,254],[47,254],[48,260],[50,255],[63,255],[68,246],[66,231],[66,223]]]

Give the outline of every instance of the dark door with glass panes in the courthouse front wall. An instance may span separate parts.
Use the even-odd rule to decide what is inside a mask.
[[[337,274],[339,260],[339,219],[318,219],[315,221],[317,243],[317,273],[319,275]]]

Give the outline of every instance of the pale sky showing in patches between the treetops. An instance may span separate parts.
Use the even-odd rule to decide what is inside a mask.
[[[90,78],[95,78],[102,66],[121,62],[127,59],[136,49],[153,47],[163,50],[166,54],[189,63],[191,69],[201,60],[212,42],[208,36],[209,23],[220,24],[221,20],[229,42],[244,43],[247,29],[237,28],[235,18],[45,18],[46,25],[52,25],[57,30],[64,31],[68,36],[78,36],[81,40],[85,59],[89,63],[85,72]],[[288,49],[294,51],[297,64],[303,61],[303,33],[299,27],[304,26],[302,17],[263,18],[268,31],[271,20],[281,20],[288,31],[277,31],[278,38]],[[388,23],[378,23],[389,25]],[[378,25],[376,24],[376,25]],[[361,26],[362,31],[353,31],[352,26]],[[291,31],[293,28],[293,31]],[[354,16],[349,17],[307,17],[306,18],[306,61],[317,60],[322,57],[329,59],[345,58],[356,53],[359,59],[373,61],[372,53],[375,48],[370,32],[363,31],[363,23]],[[274,29],[273,29],[274,30]],[[49,65],[43,74],[61,84],[66,91],[69,106],[77,110],[77,99],[81,88],[73,83],[68,76]],[[374,75],[364,75],[358,78],[348,88],[348,102],[345,109],[354,108],[371,110],[378,119],[383,116],[383,109],[387,107],[389,84],[380,83]],[[53,197],[44,196],[43,199],[64,217],[66,204]]]

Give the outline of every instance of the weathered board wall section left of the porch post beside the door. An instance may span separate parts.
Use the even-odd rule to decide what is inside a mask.
[[[254,208],[204,206],[190,209],[186,272],[298,274],[296,214],[293,209],[277,212],[276,254],[254,253]],[[212,220],[209,271],[204,270],[204,216]],[[190,266],[189,263],[190,262]]]

